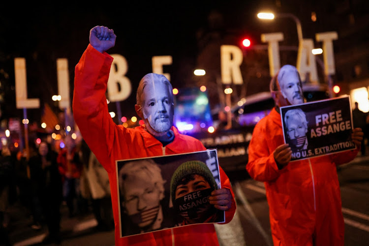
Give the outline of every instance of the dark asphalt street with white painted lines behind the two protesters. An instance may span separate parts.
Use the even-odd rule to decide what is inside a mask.
[[[369,156],[358,156],[338,168],[345,220],[345,246],[366,246],[369,242]],[[226,225],[216,225],[222,246],[272,246],[269,207],[264,184],[249,178],[233,181],[238,209]],[[41,245],[46,229],[30,228],[31,218],[13,207],[10,239],[14,246]],[[114,231],[98,231],[92,213],[69,218],[62,207],[62,243],[65,246],[113,246]]]

